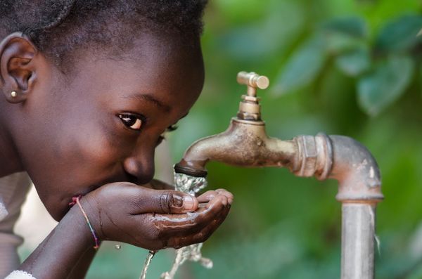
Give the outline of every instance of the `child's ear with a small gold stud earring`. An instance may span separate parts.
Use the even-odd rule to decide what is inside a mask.
[[[33,90],[37,79],[34,57],[37,48],[21,32],[8,35],[0,43],[0,82],[6,100],[21,103]]]

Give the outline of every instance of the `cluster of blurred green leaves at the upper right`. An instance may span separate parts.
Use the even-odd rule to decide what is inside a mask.
[[[295,50],[276,81],[279,93],[312,84],[333,57],[345,75],[356,78],[359,105],[368,115],[378,115],[399,99],[414,78],[422,37],[421,15],[403,15],[385,24],[371,44],[362,18],[327,20]],[[321,38],[323,37],[324,40]]]

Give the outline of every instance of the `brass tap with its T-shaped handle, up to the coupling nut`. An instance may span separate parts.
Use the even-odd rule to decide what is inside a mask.
[[[266,89],[269,79],[255,72],[239,72],[237,81],[248,86],[242,96],[236,117],[222,134],[200,139],[191,145],[174,169],[191,176],[206,176],[208,161],[224,162],[241,167],[289,167],[297,149],[294,141],[270,138],[261,119],[257,89]]]

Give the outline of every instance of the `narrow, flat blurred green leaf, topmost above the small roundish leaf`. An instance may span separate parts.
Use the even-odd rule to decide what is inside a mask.
[[[335,18],[322,25],[325,32],[335,32],[352,37],[365,38],[367,35],[366,23],[362,18]]]

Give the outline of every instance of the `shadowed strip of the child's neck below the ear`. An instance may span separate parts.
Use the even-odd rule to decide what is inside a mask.
[[[4,108],[1,108],[4,104],[0,102],[0,110],[4,112]],[[18,171],[23,171],[22,164],[20,163],[18,151],[13,143],[11,134],[8,133],[8,129],[5,123],[5,115],[0,114],[0,177],[13,174]]]

